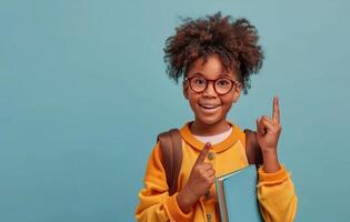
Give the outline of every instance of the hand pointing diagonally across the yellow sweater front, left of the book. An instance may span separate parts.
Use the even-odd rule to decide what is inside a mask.
[[[178,204],[184,213],[189,212],[216,181],[216,171],[212,169],[212,164],[204,162],[210,148],[211,144],[206,143],[194,162],[187,184],[178,194]]]

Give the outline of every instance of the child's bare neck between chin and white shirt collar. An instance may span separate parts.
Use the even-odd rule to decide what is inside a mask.
[[[230,124],[226,121],[226,119],[222,119],[220,122],[213,124],[207,124],[196,119],[189,127],[193,134],[203,137],[216,135],[230,129]]]

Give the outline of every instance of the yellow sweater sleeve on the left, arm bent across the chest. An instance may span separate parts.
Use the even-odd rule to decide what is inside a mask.
[[[166,171],[160,159],[159,143],[153,149],[143,179],[144,188],[139,192],[136,209],[137,221],[193,221],[193,210],[183,213],[177,202],[178,192],[169,196]]]

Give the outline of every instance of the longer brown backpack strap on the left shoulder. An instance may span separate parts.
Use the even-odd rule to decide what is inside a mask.
[[[162,165],[167,174],[169,195],[172,195],[178,190],[178,178],[182,163],[180,131],[178,129],[171,129],[168,132],[162,132],[158,135],[157,140],[160,142]]]

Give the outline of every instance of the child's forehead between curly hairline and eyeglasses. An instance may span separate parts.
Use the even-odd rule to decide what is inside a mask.
[[[208,79],[217,79],[219,77],[230,77],[236,79],[234,70],[226,70],[219,56],[213,54],[208,57],[204,62],[203,58],[197,59],[189,68],[187,75],[196,74],[203,75]]]

